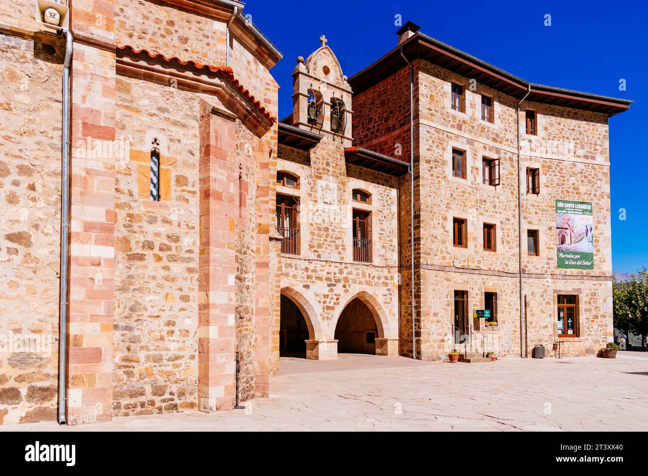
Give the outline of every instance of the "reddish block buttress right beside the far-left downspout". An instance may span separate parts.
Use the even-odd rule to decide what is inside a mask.
[[[97,25],[94,6],[84,6],[76,6],[73,26],[112,41],[112,9],[101,9]],[[82,151],[89,142],[114,144],[115,54],[75,43],[71,93],[67,422],[75,425],[111,419],[114,157]]]

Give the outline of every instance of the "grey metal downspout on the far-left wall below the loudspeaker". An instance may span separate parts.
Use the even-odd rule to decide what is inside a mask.
[[[63,137],[61,176],[61,284],[59,297],[60,324],[58,328],[58,423],[65,425],[67,400],[67,249],[69,245],[69,161],[70,161],[70,67],[72,66],[73,36],[62,30],[65,37],[63,63]]]

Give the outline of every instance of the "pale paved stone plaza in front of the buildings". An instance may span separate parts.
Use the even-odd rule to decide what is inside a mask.
[[[5,425],[0,431],[484,430],[646,431],[648,354],[617,359],[425,363],[341,354],[281,359],[270,398],[246,411],[113,418],[104,424]]]

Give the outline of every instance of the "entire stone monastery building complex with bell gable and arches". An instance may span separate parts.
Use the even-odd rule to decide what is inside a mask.
[[[0,11],[0,424],[230,409],[237,353],[248,400],[284,355],[612,339],[608,119],[630,101],[408,23],[350,78],[322,36],[279,121],[282,55],[243,10]]]

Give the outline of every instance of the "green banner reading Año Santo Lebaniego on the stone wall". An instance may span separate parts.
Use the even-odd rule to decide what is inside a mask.
[[[594,269],[594,225],[589,201],[556,200],[556,254],[563,269]]]

